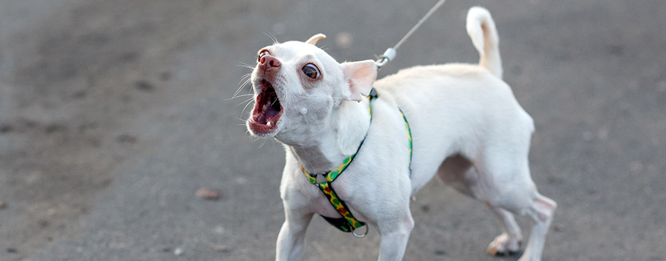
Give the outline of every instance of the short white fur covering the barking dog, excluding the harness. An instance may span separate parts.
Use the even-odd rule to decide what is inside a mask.
[[[491,242],[489,253],[519,250],[522,234],[515,213],[536,223],[520,260],[541,259],[557,204],[540,195],[530,177],[534,123],[501,80],[490,13],[471,8],[467,30],[480,64],[416,66],[376,81],[371,60],[339,64],[317,48],[322,34],[305,43],[276,43],[261,50],[268,52],[252,73],[255,97],[265,91],[262,80],[271,83],[282,114],[269,131],[255,127],[252,116],[247,125],[255,136],[283,143],[287,152],[280,185],[286,220],[278,235],[277,260],[301,258],[313,214],[340,217],[308,183],[299,163],[310,173],[334,169],[355,152],[366,133],[355,160],[333,185],[358,220],[379,230],[379,260],[402,259],[414,227],[409,199],[435,174],[496,213],[503,233]],[[301,68],[308,63],[318,66],[320,78],[304,75]],[[362,96],[372,86],[379,99],[372,101],[371,125],[369,101]],[[412,127],[411,178],[407,131],[398,108]]]

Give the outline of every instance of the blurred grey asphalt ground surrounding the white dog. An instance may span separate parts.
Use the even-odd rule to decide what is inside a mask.
[[[273,259],[284,152],[245,131],[241,64],[269,34],[374,59],[435,2],[0,0],[0,260]],[[543,259],[666,260],[666,1],[449,0],[380,76],[476,63],[476,5],[559,203]],[[517,259],[485,253],[480,202],[439,181],[416,199],[405,260]],[[321,218],[307,238],[305,260],[379,253]]]

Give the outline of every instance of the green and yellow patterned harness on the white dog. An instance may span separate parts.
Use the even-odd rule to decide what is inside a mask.
[[[373,99],[376,99],[377,96],[377,91],[372,88],[370,91],[370,94],[368,95],[368,99],[372,101]],[[400,108],[399,108],[400,110]],[[368,106],[368,113],[370,114],[370,122],[372,123],[372,107]],[[402,118],[405,120],[405,126],[407,127],[407,135],[409,136],[409,178],[412,178],[412,130],[409,128],[409,122],[407,122],[407,118],[405,117],[405,113],[402,113],[402,110],[400,110],[400,114],[402,115]],[[332,183],[335,181],[335,179],[342,174],[342,171],[344,171],[349,164],[354,160],[354,157],[356,157],[356,154],[358,153],[358,150],[360,150],[361,146],[363,145],[363,142],[365,141],[365,138],[367,137],[367,133],[365,134],[365,137],[363,137],[363,140],[361,143],[358,145],[358,148],[356,149],[356,152],[351,155],[350,157],[347,157],[342,164],[340,164],[337,169],[334,169],[332,171],[328,171],[325,174],[321,174],[323,178],[325,179],[324,181],[318,182],[317,181],[317,175],[318,174],[308,174],[308,171],[306,171],[303,166],[299,164],[299,167],[301,168],[301,171],[303,171],[303,174],[308,178],[308,181],[312,183],[313,185],[316,185],[326,196],[328,201],[331,203],[333,208],[340,213],[342,218],[329,218],[322,216],[329,224],[333,225],[334,227],[337,227],[339,230],[343,232],[352,232],[355,237],[365,237],[365,234],[367,234],[367,230],[365,230],[365,234],[356,234],[354,230],[358,229],[359,227],[362,227],[365,225],[365,223],[357,220],[354,218],[353,214],[349,211],[349,208],[347,204],[342,201],[337,194],[335,193],[335,190],[333,190]]]

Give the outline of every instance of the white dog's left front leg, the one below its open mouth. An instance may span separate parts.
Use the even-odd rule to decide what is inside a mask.
[[[305,232],[312,216],[313,213],[290,210],[285,204],[285,223],[278,234],[276,260],[301,260],[305,245]]]

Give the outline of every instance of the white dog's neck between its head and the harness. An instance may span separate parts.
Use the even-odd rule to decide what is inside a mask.
[[[370,125],[368,100],[343,101],[321,125],[309,125],[308,141],[287,145],[308,173],[325,173],[356,153]]]

